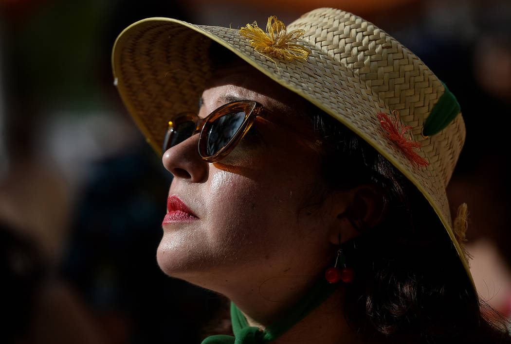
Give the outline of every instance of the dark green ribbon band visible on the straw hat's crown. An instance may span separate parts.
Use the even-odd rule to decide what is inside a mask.
[[[454,94],[452,94],[447,86],[444,85],[444,93],[438,99],[433,109],[429,113],[424,127],[422,129],[422,135],[428,137],[435,135],[445,129],[459,114],[460,106]]]

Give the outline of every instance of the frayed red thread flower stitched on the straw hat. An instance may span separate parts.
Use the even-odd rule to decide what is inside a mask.
[[[378,119],[380,120],[382,128],[387,132],[387,137],[396,142],[408,159],[416,163],[417,166],[429,166],[429,162],[414,151],[414,148],[421,148],[421,143],[413,141],[410,135],[405,137],[406,132],[411,129],[411,127],[401,127],[399,111],[392,111],[392,115],[394,115],[394,112],[396,113],[395,116],[391,117],[383,112],[378,114]]]

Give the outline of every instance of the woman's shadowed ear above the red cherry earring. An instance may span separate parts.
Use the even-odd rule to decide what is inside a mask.
[[[373,185],[361,185],[338,195],[337,225],[329,233],[330,242],[339,245],[378,226],[387,213],[384,192]],[[340,239],[340,242],[339,242]]]

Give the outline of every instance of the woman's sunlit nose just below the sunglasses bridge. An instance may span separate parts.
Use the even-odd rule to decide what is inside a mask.
[[[163,154],[163,165],[174,178],[187,179],[193,183],[207,179],[208,163],[200,157],[198,144],[199,134],[195,134]]]

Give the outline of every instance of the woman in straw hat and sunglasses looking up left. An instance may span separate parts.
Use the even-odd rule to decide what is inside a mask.
[[[174,175],[158,264],[232,301],[236,339],[203,343],[508,340],[480,314],[466,207],[450,219],[454,96],[351,13],[287,30],[153,18],[114,46],[121,97]]]

